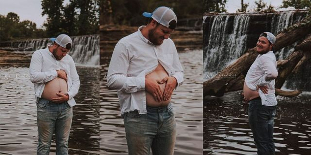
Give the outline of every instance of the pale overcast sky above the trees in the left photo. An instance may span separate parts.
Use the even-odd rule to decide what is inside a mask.
[[[69,0],[65,0],[67,4]],[[30,20],[37,24],[37,28],[43,25],[46,15],[42,17],[41,0],[0,0],[0,14],[16,13],[20,21]]]

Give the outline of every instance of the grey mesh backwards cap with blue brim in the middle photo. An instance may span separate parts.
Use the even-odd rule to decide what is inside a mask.
[[[158,7],[152,13],[144,12],[143,16],[153,18],[161,25],[171,29],[175,29],[177,24],[177,17],[175,13],[168,7]],[[175,20],[174,24],[171,23],[173,20]]]

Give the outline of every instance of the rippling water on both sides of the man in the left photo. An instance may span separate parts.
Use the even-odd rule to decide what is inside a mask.
[[[99,68],[80,66],[77,72],[81,85],[74,98],[69,154],[98,154]],[[0,68],[0,154],[36,154],[37,107],[28,73],[25,67]],[[53,140],[50,154],[55,148]]]

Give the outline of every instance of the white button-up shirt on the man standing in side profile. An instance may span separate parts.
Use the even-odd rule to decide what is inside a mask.
[[[267,86],[268,94],[264,94],[261,89],[258,90],[262,105],[275,106],[277,104],[274,88],[275,79],[266,81],[267,77],[277,77],[276,59],[273,51],[257,56],[246,74],[245,83],[252,90],[256,90],[257,85]]]

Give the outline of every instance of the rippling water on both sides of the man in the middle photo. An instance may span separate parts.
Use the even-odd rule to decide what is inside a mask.
[[[172,95],[176,118],[175,154],[202,154],[202,50],[178,53],[184,84]],[[127,154],[123,119],[115,90],[107,88],[110,56],[100,55],[100,154]]]

